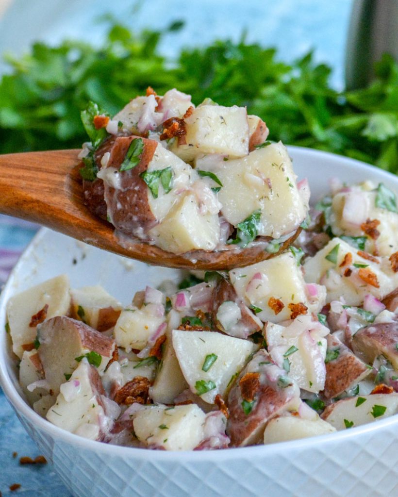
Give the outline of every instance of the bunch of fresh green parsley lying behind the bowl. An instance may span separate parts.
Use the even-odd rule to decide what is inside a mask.
[[[0,82],[1,153],[80,147],[80,111],[92,100],[116,113],[151,85],[176,87],[201,102],[246,105],[271,130],[272,140],[335,152],[398,172],[398,65],[384,56],[369,87],[339,93],[330,68],[309,53],[291,65],[275,49],[217,41],[159,54],[159,41],[182,27],[135,33],[113,22],[102,47],[77,41],[36,43],[29,55],[8,58]]]

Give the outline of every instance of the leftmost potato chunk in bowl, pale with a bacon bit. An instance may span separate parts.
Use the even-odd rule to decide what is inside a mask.
[[[21,359],[22,345],[36,338],[36,326],[29,326],[32,316],[48,305],[46,318],[68,314],[71,304],[68,276],[62,274],[14,295],[7,303],[7,320],[12,350]]]

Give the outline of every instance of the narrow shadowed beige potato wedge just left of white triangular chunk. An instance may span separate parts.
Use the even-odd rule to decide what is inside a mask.
[[[189,388],[175,355],[171,333],[167,333],[163,356],[149,395],[156,404],[172,404],[181,392]]]

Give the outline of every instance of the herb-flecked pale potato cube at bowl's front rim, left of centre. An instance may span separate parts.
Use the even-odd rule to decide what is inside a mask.
[[[147,446],[192,450],[203,439],[206,414],[195,404],[145,406],[134,414],[134,431]]]

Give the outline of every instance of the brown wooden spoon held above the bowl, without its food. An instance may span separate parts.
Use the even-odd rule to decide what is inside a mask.
[[[114,227],[84,205],[79,150],[54,150],[0,156],[0,212],[33,221],[94,247],[160,266],[221,270],[247,266],[288,248],[301,229],[276,253],[263,248],[174,254],[144,242],[120,245]]]

